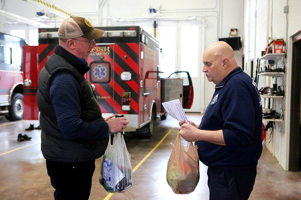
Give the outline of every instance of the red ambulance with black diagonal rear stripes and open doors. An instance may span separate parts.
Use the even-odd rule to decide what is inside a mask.
[[[139,26],[95,27],[105,30],[95,40],[85,74],[103,117],[118,113],[129,120],[126,132],[151,136],[154,120],[166,119],[162,102],[179,99],[190,108],[193,86],[188,72],[162,78],[159,41]],[[39,46],[24,48],[24,119],[38,119],[36,106],[39,71],[58,44],[57,28],[39,29]],[[26,92],[26,93],[25,93]]]

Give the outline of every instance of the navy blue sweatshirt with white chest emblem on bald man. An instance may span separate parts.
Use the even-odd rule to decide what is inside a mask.
[[[216,85],[199,129],[222,130],[226,143],[195,142],[205,165],[227,169],[257,165],[262,152],[262,102],[256,84],[240,67]]]

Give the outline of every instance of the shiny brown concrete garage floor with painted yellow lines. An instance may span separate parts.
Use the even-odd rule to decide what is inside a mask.
[[[202,117],[195,113],[186,114],[195,123],[199,123]],[[50,185],[45,159],[40,150],[40,130],[25,131],[29,124],[36,127],[38,121],[9,122],[0,117],[0,200],[53,199],[54,189]],[[134,171],[131,188],[124,193],[114,194],[106,192],[98,182],[101,159],[97,159],[90,199],[209,199],[207,167],[201,162],[200,181],[194,192],[188,195],[174,194],[166,182],[167,161],[172,151],[169,143],[175,142],[178,128],[178,122],[168,116],[166,120],[157,119],[154,135],[149,139],[137,139],[126,133],[125,141],[133,169],[148,155],[147,159]],[[32,139],[18,142],[19,133]],[[162,141],[165,135],[167,136]],[[159,145],[155,148],[157,144]],[[301,172],[285,171],[265,147],[257,169],[250,200],[301,200]]]

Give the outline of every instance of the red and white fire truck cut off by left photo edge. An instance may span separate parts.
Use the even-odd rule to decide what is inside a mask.
[[[23,46],[26,41],[0,33],[0,115],[23,119]]]

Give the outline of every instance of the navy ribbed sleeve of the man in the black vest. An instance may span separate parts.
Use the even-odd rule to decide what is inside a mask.
[[[87,141],[109,137],[107,122],[84,122],[80,118],[80,95],[80,86],[71,73],[57,73],[51,79],[50,100],[64,137]]]

